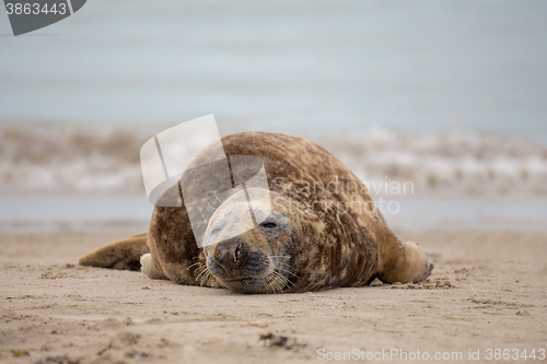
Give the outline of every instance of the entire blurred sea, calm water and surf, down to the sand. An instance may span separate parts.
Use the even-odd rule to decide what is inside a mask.
[[[140,146],[208,114],[411,180],[389,198],[403,230],[545,230],[545,19],[544,1],[93,0],[13,37],[0,12],[0,231],[146,228]]]

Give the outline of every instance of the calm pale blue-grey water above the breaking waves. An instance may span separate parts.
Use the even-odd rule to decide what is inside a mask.
[[[214,114],[222,134],[472,128],[546,143],[546,19],[540,0],[93,0],[13,37],[0,12],[0,120]]]

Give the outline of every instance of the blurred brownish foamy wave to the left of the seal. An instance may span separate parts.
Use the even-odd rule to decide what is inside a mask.
[[[107,128],[4,128],[0,187],[3,191],[139,191],[139,150],[147,137]]]

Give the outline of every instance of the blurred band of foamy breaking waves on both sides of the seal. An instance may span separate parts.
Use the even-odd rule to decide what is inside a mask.
[[[368,128],[303,137],[331,151],[373,192],[383,192],[377,184],[410,181],[416,195],[547,193],[547,149],[520,134]],[[114,128],[3,128],[0,188],[144,193],[139,151],[149,138]]]

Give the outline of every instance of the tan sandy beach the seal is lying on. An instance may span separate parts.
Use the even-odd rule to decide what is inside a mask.
[[[435,261],[424,283],[276,295],[77,265],[125,235],[0,236],[2,363],[546,362],[543,232],[406,233]]]

